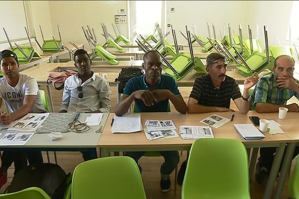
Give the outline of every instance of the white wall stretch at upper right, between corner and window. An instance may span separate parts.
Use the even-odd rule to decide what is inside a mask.
[[[245,24],[251,25],[253,37],[257,35],[256,23],[259,24],[259,38],[263,44],[263,25],[268,25],[269,44],[278,45],[278,36],[281,44],[287,45],[292,5],[293,0],[249,0],[246,3]],[[247,32],[244,31],[246,37]]]

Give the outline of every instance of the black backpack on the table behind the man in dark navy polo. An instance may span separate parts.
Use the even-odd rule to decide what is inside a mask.
[[[127,82],[134,77],[143,75],[144,72],[141,68],[128,67],[123,68],[119,73],[119,76],[115,79],[115,82],[119,81],[119,90],[120,94],[124,93],[124,89],[126,87]]]

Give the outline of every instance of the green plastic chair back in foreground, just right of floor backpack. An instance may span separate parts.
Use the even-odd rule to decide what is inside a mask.
[[[73,174],[72,199],[146,199],[136,162],[127,156],[89,160]]]

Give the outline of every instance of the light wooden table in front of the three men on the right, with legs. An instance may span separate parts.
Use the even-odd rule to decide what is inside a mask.
[[[204,125],[199,121],[203,118],[211,115],[213,113],[202,113],[202,114],[180,114],[178,112],[163,112],[163,113],[141,113],[141,122],[144,125],[147,119],[154,120],[165,120],[172,119],[174,124],[177,127],[177,132],[179,131],[180,125]],[[276,120],[282,124],[282,129],[286,132],[286,134],[265,134],[266,138],[264,140],[253,140],[253,141],[245,141],[239,133],[233,127],[233,124],[237,123],[252,123],[249,119],[248,115],[258,115],[261,118],[270,118],[269,114],[263,115],[258,114],[254,111],[250,111],[248,115],[241,114],[240,112],[216,112],[221,116],[226,118],[231,118],[232,114],[235,114],[235,119],[233,122],[228,122],[216,129],[213,128],[213,133],[215,138],[229,138],[239,140],[244,143],[247,148],[254,148],[253,153],[257,154],[257,149],[259,147],[278,147],[273,167],[269,176],[268,184],[266,187],[264,199],[270,199],[275,179],[278,174],[278,169],[283,157],[283,153],[285,150],[286,143],[290,143],[292,140],[289,136],[287,136],[287,132],[289,132],[288,128],[288,120],[278,120],[277,114],[273,114],[273,118],[276,117]],[[103,130],[101,139],[99,140],[99,147],[101,150],[101,156],[106,157],[109,156],[109,153],[112,151],[166,151],[166,150],[189,150],[194,140],[183,140],[180,137],[169,138],[169,139],[157,139],[157,140],[147,140],[145,133],[143,131],[136,133],[111,133],[111,121],[114,117],[114,114],[111,113],[107,119],[107,123]],[[271,117],[272,118],[272,117]],[[297,116],[297,119],[299,117]],[[296,128],[291,129],[290,132],[296,131]],[[250,176],[252,178],[253,170],[256,161],[256,154],[253,154],[253,159],[250,161]]]

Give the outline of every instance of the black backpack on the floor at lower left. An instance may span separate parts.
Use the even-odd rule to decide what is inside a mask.
[[[7,193],[18,192],[29,187],[42,189],[52,199],[63,199],[64,193],[69,183],[66,175],[59,165],[42,163],[28,165],[18,171],[11,184],[7,188]]]

